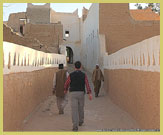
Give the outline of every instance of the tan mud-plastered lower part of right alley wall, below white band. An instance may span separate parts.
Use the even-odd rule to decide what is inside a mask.
[[[105,89],[141,129],[160,129],[160,73],[105,70]]]

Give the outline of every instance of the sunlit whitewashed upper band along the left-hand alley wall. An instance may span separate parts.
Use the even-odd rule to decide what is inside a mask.
[[[47,67],[66,66],[66,56],[44,53],[29,47],[3,42],[3,74],[30,72]]]

